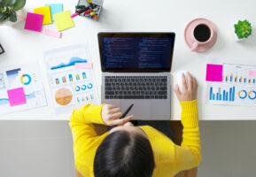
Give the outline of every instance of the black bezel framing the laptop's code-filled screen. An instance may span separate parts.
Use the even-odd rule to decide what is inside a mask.
[[[167,69],[163,68],[105,68],[103,65],[103,57],[102,57],[102,44],[101,39],[104,37],[171,37],[173,38],[173,44],[171,49],[171,56],[170,56],[170,65]],[[98,50],[100,55],[100,64],[102,72],[112,72],[112,73],[152,73],[152,72],[170,72],[173,63],[173,55],[175,49],[175,33],[98,33],[97,34],[98,40]]]

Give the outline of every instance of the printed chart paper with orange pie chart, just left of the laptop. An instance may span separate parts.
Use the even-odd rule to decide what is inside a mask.
[[[52,102],[56,113],[71,113],[85,104],[100,104],[86,44],[70,46],[43,54]]]

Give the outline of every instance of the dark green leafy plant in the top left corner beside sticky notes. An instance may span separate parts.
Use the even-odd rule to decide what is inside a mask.
[[[26,0],[0,0],[0,22],[8,19],[17,21],[16,11],[19,11],[26,4]]]

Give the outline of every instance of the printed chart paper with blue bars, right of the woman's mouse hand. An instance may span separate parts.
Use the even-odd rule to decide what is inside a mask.
[[[221,81],[207,81],[206,103],[227,105],[256,105],[256,62],[243,64],[216,60],[222,65]],[[208,73],[207,73],[208,74]]]

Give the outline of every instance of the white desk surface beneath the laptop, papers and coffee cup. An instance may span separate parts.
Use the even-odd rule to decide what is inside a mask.
[[[43,6],[44,3],[62,3],[64,10],[74,12],[76,1],[34,1],[27,0],[27,12]],[[256,35],[244,42],[235,42],[232,25],[238,19],[248,19],[256,24],[256,2],[244,0],[203,1],[203,0],[105,0],[104,11],[99,21],[81,17],[74,18],[75,27],[63,32],[61,39],[45,36],[42,33],[24,30],[24,23],[16,27],[0,27],[0,42],[5,54],[0,56],[0,69],[6,65],[19,65],[27,61],[39,61],[43,77],[48,106],[14,112],[0,116],[0,119],[68,119],[69,115],[55,115],[50,100],[50,90],[46,81],[43,65],[43,50],[56,49],[67,45],[88,42],[90,55],[94,63],[98,90],[101,84],[101,69],[97,45],[97,33],[102,31],[118,32],[175,32],[175,52],[171,74],[180,70],[190,71],[198,79],[198,110],[202,120],[256,119],[255,107],[218,106],[206,104],[206,58],[251,58],[256,60]],[[183,39],[183,32],[191,19],[206,18],[218,28],[218,40],[213,49],[205,53],[191,52]],[[55,25],[47,25],[55,28]],[[255,27],[255,26],[254,26]],[[253,29],[255,30],[255,28]],[[253,31],[253,33],[255,33]],[[172,119],[180,119],[180,105],[174,94],[172,81]],[[99,93],[100,95],[100,93]]]

